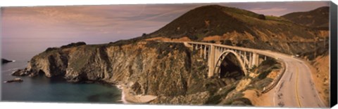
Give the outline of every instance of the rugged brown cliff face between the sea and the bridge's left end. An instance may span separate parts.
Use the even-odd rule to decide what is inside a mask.
[[[225,86],[206,78],[206,60],[183,44],[139,42],[53,48],[28,64],[30,75],[61,76],[70,82],[103,81],[132,87],[136,94],[178,96]],[[208,87],[206,87],[207,84]]]

